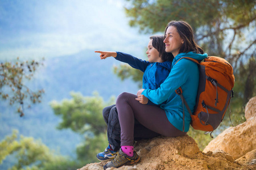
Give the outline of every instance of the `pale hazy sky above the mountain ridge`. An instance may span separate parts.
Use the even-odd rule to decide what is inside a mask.
[[[84,49],[144,54],[150,35],[131,28],[124,0],[0,0],[0,59]]]

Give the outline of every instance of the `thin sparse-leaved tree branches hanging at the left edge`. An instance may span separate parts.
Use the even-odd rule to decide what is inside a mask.
[[[41,62],[5,62],[0,64],[0,97],[9,100],[10,105],[18,104],[17,112],[20,117],[24,115],[24,105],[30,108],[30,104],[40,103],[44,90],[32,91],[24,84],[25,80],[30,80]],[[27,104],[27,103],[28,104]]]

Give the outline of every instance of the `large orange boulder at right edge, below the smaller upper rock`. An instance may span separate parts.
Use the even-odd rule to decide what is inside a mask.
[[[256,149],[256,117],[243,124],[230,127],[209,142],[203,152],[223,150],[238,159],[247,152]]]

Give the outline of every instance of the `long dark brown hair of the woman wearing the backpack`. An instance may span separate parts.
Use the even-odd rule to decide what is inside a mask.
[[[204,54],[204,50],[200,48],[199,45],[196,44],[194,39],[194,33],[191,25],[184,21],[176,21],[172,20],[167,24],[167,28],[170,26],[174,26],[177,29],[181,39],[184,40],[184,43],[181,45],[179,53],[187,53],[187,52],[195,52],[198,54]],[[165,31],[165,35],[166,35]]]

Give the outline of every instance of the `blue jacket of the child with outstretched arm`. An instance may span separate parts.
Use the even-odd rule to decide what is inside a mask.
[[[168,77],[171,71],[172,62],[148,62],[130,54],[117,52],[118,61],[128,63],[131,67],[141,70],[143,74],[142,88],[144,89],[156,89],[160,87],[160,84]],[[163,102],[162,102],[163,103]],[[148,102],[150,105],[156,105]],[[159,104],[157,104],[159,105]]]

